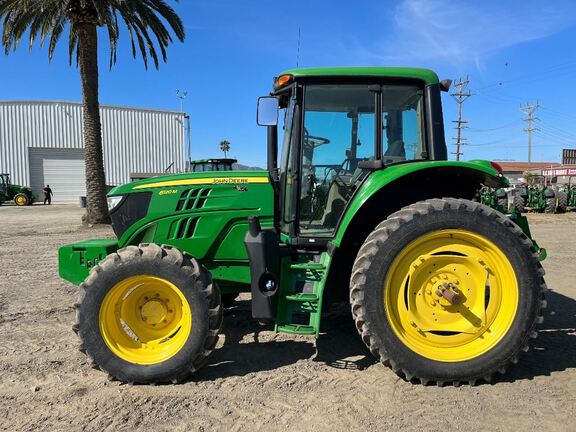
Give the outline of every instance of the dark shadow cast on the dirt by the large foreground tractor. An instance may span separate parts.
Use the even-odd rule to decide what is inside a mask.
[[[548,376],[552,372],[576,367],[576,300],[549,292],[545,321],[540,326],[531,349],[523,353],[520,363],[496,381],[513,382]],[[312,337],[277,340],[270,336],[271,326],[261,326],[251,317],[250,302],[241,301],[224,316],[224,346],[216,350],[208,364],[194,375],[194,380],[274,370],[299,360],[312,359],[338,369],[363,370],[377,363],[364,346],[348,305],[337,305],[322,320],[322,334],[314,343]],[[267,332],[266,340],[261,333]],[[252,341],[240,343],[246,336]]]

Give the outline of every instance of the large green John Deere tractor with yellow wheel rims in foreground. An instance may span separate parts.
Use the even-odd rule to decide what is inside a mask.
[[[447,160],[449,85],[416,68],[291,70],[258,101],[267,172],[113,189],[117,238],[59,250],[92,366],[186,380],[216,346],[223,298],[248,292],[255,320],[313,337],[350,302],[370,352],[409,381],[504,373],[542,321],[545,254],[524,216],[473,201],[508,186],[498,164]]]

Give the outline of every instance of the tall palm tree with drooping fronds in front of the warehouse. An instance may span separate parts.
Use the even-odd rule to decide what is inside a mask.
[[[162,18],[162,20],[160,19]],[[110,67],[116,62],[116,46],[123,21],[132,43],[132,55],[139,50],[144,66],[148,56],[158,68],[157,47],[166,61],[166,47],[172,42],[166,24],[176,37],[184,40],[184,26],[176,12],[164,0],[0,0],[2,45],[6,54],[16,50],[29,31],[29,47],[39,37],[48,41],[48,59],[52,60],[60,37],[68,29],[70,64],[80,68],[83,103],[84,151],[86,159],[87,223],[108,223],[106,179],[102,155],[102,131],[98,102],[98,27],[107,30],[110,43]],[[136,48],[138,47],[138,49]]]

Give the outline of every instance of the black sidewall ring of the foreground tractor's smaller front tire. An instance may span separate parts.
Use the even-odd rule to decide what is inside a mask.
[[[150,275],[173,283],[184,295],[192,313],[192,329],[184,346],[169,359],[153,365],[131,363],[116,356],[106,345],[99,327],[100,307],[106,294],[117,283],[132,277]],[[80,333],[89,354],[111,375],[128,382],[162,382],[185,374],[191,362],[203,352],[209,331],[208,299],[197,280],[181,267],[164,260],[142,257],[120,263],[98,274],[86,288],[80,307]]]

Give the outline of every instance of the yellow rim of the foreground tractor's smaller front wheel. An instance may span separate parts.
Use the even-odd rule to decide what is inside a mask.
[[[104,297],[100,332],[110,350],[141,365],[161,363],[178,353],[190,336],[190,305],[174,284],[155,276],[133,276]]]

